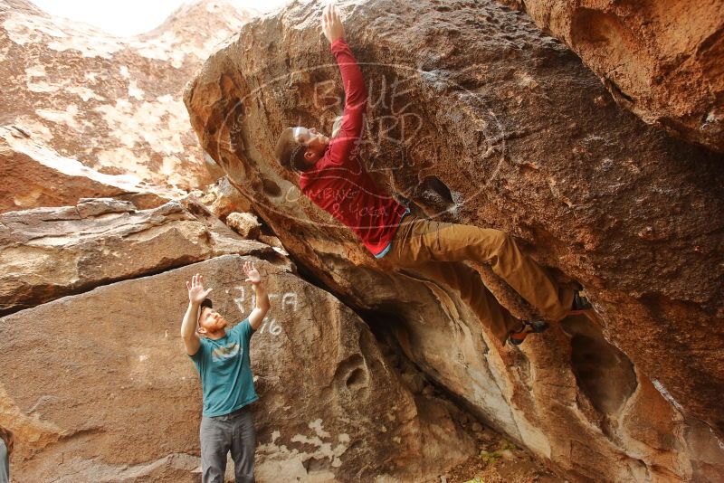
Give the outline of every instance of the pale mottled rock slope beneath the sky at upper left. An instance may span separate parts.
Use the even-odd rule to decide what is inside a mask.
[[[189,189],[211,178],[181,91],[250,17],[223,1],[184,5],[157,29],[114,37],[0,2],[0,125],[106,175]]]

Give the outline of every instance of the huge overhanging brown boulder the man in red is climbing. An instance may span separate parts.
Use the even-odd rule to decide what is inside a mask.
[[[367,80],[360,156],[376,181],[415,213],[519,237],[584,284],[600,320],[500,347],[457,292],[390,270],[300,195],[277,137],[329,132],[343,104],[319,5],[244,25],[186,89],[202,147],[254,212],[317,283],[567,478],[724,478],[721,156],[618,107],[565,46],[495,2],[341,11]]]

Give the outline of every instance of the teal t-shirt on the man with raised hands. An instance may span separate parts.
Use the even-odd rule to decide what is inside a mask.
[[[245,318],[220,339],[202,337],[198,352],[190,355],[201,375],[206,417],[223,416],[259,399],[249,359],[253,333]]]

